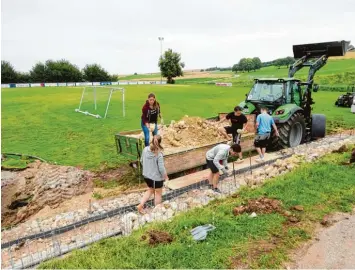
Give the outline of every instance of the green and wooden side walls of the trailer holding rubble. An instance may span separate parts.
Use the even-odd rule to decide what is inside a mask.
[[[219,113],[216,117],[207,118],[209,121],[219,121],[227,113]],[[242,134],[240,146],[243,152],[254,150],[255,136],[255,115],[246,115],[248,119],[247,133]],[[141,130],[123,131],[115,135],[117,152],[125,156],[130,161],[138,161],[144,148],[142,139],[135,138],[134,135],[140,134]],[[133,135],[133,136],[132,136]],[[220,143],[205,144],[198,147],[181,148],[173,153],[164,154],[165,168],[169,177],[175,178],[186,174],[194,173],[206,167],[206,152]]]

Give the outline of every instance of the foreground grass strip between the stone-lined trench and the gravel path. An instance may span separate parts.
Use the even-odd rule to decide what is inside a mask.
[[[45,269],[226,269],[284,268],[289,251],[309,240],[316,223],[337,211],[351,211],[355,204],[354,168],[340,165],[350,152],[332,154],[313,164],[268,181],[257,189],[242,189],[238,197],[216,200],[206,207],[181,213],[171,222],[153,223],[127,237],[111,238],[78,250],[62,259],[45,262]],[[341,179],[341,181],[334,181]],[[288,223],[279,213],[234,216],[234,207],[248,199],[268,197],[280,200],[283,210],[292,211],[300,222]],[[213,224],[207,239],[195,242],[190,230]],[[149,246],[142,235],[155,229],[173,237],[170,244]]]

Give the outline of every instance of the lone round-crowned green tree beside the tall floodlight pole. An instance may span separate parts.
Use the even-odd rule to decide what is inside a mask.
[[[167,78],[168,83],[174,83],[173,78],[183,76],[182,68],[185,63],[181,62],[181,55],[168,49],[164,55],[159,58],[160,72],[163,77]]]

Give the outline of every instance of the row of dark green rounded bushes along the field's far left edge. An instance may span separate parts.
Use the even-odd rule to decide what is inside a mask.
[[[68,60],[38,62],[29,72],[16,71],[8,61],[1,61],[1,83],[54,83],[117,81],[99,64],[88,64],[82,70]]]

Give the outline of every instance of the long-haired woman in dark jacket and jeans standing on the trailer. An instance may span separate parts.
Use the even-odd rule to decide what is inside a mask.
[[[161,119],[160,104],[155,95],[151,93],[142,108],[141,126],[145,146],[149,146],[150,132],[153,136],[158,135],[158,117]]]

